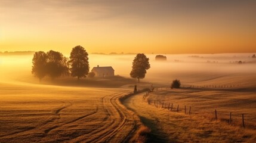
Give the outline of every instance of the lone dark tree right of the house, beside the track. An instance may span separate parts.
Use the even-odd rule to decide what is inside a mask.
[[[144,54],[137,54],[132,62],[130,76],[138,79],[138,82],[140,82],[140,79],[145,77],[145,74],[147,73],[146,70],[148,69],[150,69],[149,58]]]

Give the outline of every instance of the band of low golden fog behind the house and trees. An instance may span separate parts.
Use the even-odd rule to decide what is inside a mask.
[[[156,54],[146,55],[150,58],[151,68],[147,70],[146,78],[142,80],[144,82],[168,84],[173,79],[180,79],[183,83],[191,83],[256,73],[256,60],[252,54],[167,54],[166,61],[156,61]],[[97,65],[112,66],[116,75],[129,77],[134,57],[132,54],[90,54],[90,70]],[[32,79],[32,58],[33,55],[0,55],[1,82]],[[242,64],[238,61],[242,61]]]

